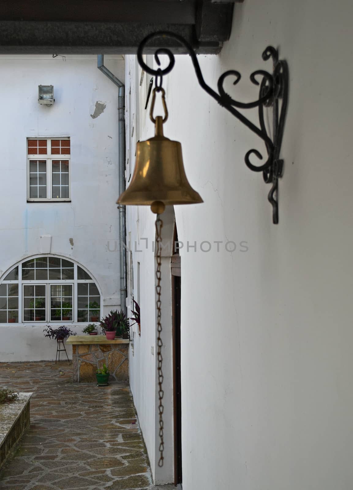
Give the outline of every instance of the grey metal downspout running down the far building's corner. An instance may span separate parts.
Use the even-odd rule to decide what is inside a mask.
[[[125,85],[104,66],[104,54],[97,56],[98,70],[119,87],[118,132],[119,132],[119,196],[125,191]],[[120,254],[120,308],[126,314],[126,216],[125,206],[119,205],[119,254]]]

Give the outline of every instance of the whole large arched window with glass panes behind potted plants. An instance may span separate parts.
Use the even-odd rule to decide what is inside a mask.
[[[0,284],[0,323],[99,321],[99,290],[74,262],[34,257],[14,267]]]

